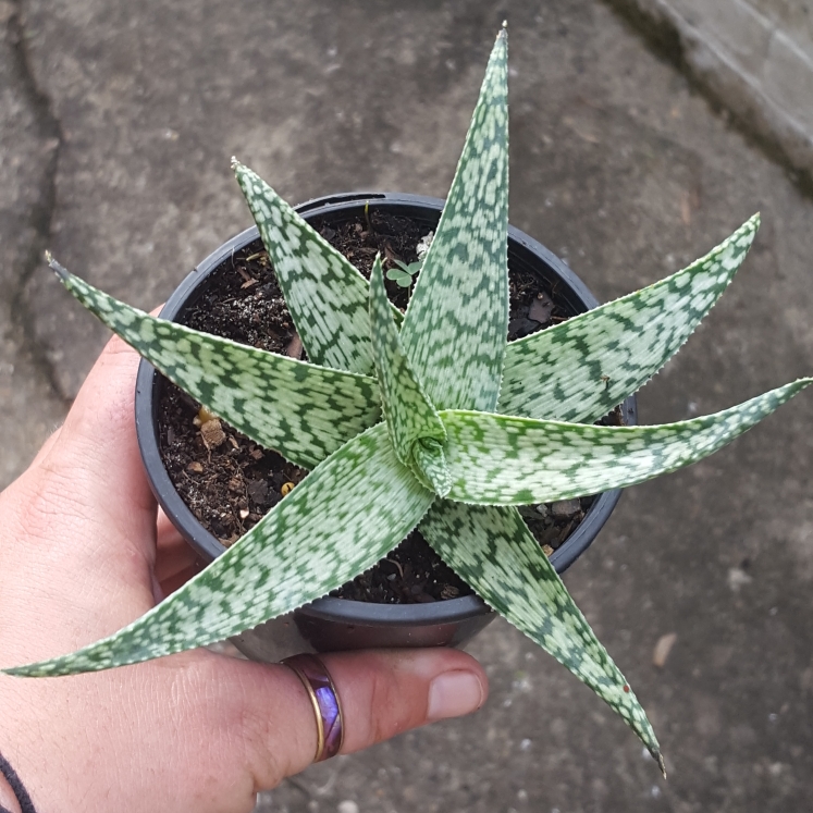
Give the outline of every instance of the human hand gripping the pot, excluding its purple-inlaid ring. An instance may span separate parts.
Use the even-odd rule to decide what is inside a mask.
[[[0,667],[76,650],[195,572],[157,513],[133,419],[137,355],[113,338],[64,426],[0,494]],[[480,707],[482,668],[455,650],[323,655],[343,753]],[[285,666],[208,650],[110,672],[0,675],[0,754],[38,813],[236,813],[313,760],[310,699]],[[0,776],[0,806],[20,811]]]

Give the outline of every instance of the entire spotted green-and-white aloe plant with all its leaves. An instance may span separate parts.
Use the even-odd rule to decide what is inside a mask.
[[[417,527],[479,595],[605,700],[663,769],[635,693],[515,506],[692,464],[813,380],[679,423],[592,426],[686,342],[731,282],[759,215],[668,279],[508,344],[507,127],[503,30],[405,316],[386,298],[380,260],[368,282],[233,162],[309,362],[151,318],[51,260],[64,286],[164,375],[311,472],[128,627],[8,674],[107,669],[236,635],[340,587]]]

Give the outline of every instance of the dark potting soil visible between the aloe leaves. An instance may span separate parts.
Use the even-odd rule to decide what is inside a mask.
[[[384,269],[418,259],[427,233],[415,221],[372,211],[340,226],[316,227],[369,278],[378,252]],[[243,344],[306,358],[261,241],[226,260],[178,321]],[[404,310],[410,288],[387,280],[390,299]],[[556,292],[525,271],[509,271],[508,338],[521,338],[567,319]],[[169,381],[158,409],[161,457],[175,489],[200,523],[224,545],[236,542],[307,475],[220,421]],[[619,423],[620,411],[609,421]],[[593,497],[519,510],[550,555],[578,527]],[[385,559],[331,595],[383,604],[443,601],[472,590],[412,531]]]

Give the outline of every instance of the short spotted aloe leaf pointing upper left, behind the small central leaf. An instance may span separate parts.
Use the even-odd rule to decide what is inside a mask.
[[[232,165],[308,358],[372,372],[367,280],[259,175]]]

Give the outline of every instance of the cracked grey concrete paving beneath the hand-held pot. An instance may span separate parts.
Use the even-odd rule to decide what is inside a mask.
[[[813,204],[599,0],[0,1],[0,479],[63,415],[104,331],[37,257],[141,306],[247,226],[229,158],[288,200],[443,196],[510,21],[512,221],[600,298],[756,210],[736,284],[640,395],[645,422],[813,371]],[[649,710],[669,780],[507,624],[479,714],[315,766],[258,810],[787,813],[813,800],[810,393],[706,463],[630,489],[567,575]],[[665,667],[653,648],[677,640]]]

